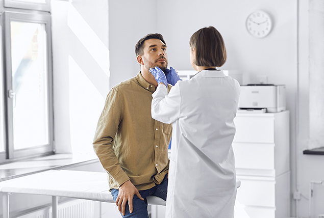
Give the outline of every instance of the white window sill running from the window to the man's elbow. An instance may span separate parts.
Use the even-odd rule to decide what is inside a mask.
[[[0,165],[0,181],[39,173],[60,170],[98,161],[93,155],[53,154]]]

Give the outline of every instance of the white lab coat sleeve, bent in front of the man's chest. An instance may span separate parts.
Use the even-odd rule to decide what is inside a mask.
[[[151,114],[153,119],[170,124],[180,118],[181,96],[178,83],[171,88],[169,94],[166,86],[159,85],[152,96]]]

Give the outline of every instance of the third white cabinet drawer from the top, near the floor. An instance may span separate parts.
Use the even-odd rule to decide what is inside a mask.
[[[246,177],[237,176],[237,180],[241,181],[241,186],[237,189],[237,201],[245,206],[275,208],[275,179],[269,177],[267,179],[260,178],[259,180],[257,178],[246,179]]]

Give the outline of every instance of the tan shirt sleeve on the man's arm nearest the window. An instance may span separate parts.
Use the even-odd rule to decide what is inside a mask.
[[[113,151],[118,125],[123,118],[122,99],[116,89],[113,88],[109,92],[93,140],[95,153],[106,172],[118,183],[118,186],[130,180],[122,170],[118,158]]]

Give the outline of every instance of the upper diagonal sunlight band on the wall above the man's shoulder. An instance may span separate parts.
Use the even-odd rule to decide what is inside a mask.
[[[89,51],[106,75],[110,76],[108,48],[94,33],[89,24],[83,19],[72,4],[69,4],[68,7],[67,25]]]

